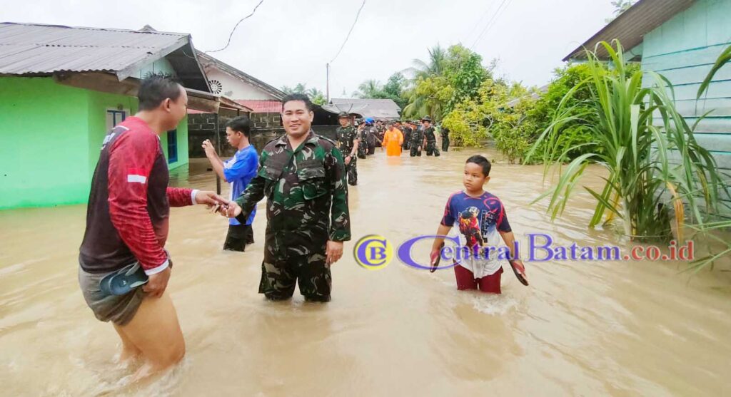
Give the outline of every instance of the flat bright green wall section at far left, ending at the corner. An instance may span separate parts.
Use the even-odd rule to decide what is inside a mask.
[[[0,77],[0,209],[88,198],[88,92]]]

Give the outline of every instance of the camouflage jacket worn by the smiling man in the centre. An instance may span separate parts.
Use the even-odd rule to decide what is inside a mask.
[[[310,131],[292,150],[287,136],[270,141],[259,158],[259,171],[236,199],[246,220],[267,198],[268,236],[278,246],[305,255],[313,244],[350,239],[348,190],[343,154],[330,139]],[[269,240],[269,239],[268,239]]]

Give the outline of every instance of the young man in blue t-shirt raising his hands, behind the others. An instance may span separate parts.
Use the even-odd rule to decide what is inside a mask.
[[[205,150],[205,156],[211,161],[211,166],[216,174],[219,174],[226,182],[231,184],[231,200],[241,196],[246,186],[256,176],[259,166],[259,155],[249,143],[251,135],[251,120],[249,117],[240,116],[230,120],[226,124],[226,140],[237,152],[228,161],[222,161],[216,154],[216,149],[210,140],[206,139],[202,147]],[[229,220],[229,230],[224,242],[224,250],[241,251],[246,248],[246,244],[254,242],[254,231],[251,229],[251,223],[254,222],[254,215],[257,210],[251,212],[246,225],[242,225],[235,218]]]

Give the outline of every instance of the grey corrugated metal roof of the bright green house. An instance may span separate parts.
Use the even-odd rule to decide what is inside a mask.
[[[120,72],[188,42],[184,33],[0,23],[0,74]]]

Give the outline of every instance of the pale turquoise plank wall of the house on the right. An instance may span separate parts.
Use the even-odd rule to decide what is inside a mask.
[[[678,111],[694,123],[702,120],[696,138],[711,150],[719,168],[731,171],[731,65],[714,77],[708,93],[696,95],[721,51],[731,45],[731,0],[698,0],[686,11],[645,35],[642,68],[663,74],[673,83]],[[643,84],[654,80],[645,74]],[[731,203],[730,203],[731,204]]]

